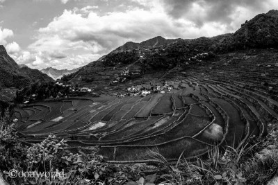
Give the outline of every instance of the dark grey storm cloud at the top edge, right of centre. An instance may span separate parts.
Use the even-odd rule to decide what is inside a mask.
[[[252,10],[263,10],[268,1],[261,0],[163,0],[166,12],[174,18],[190,19],[197,26],[209,21],[230,24],[233,14],[238,7]],[[199,6],[202,11],[199,12]]]

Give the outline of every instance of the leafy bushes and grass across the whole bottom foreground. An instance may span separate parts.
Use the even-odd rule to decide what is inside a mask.
[[[70,152],[67,142],[49,135],[42,143],[23,146],[7,111],[0,121],[0,170],[10,184],[265,184],[278,170],[278,130],[250,138],[240,148],[213,148],[203,158],[170,163],[159,152],[147,165],[108,164],[97,148],[90,156]],[[60,178],[10,178],[8,171],[65,171]]]

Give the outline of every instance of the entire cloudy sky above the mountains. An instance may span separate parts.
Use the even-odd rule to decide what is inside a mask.
[[[18,64],[73,69],[125,42],[233,33],[277,0],[0,0],[0,44]]]

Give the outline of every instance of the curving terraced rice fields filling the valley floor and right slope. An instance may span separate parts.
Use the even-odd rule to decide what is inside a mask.
[[[198,68],[167,94],[68,98],[15,109],[22,141],[36,143],[49,134],[72,148],[99,146],[109,161],[143,161],[148,150],[167,159],[204,155],[213,146],[239,147],[264,136],[278,119],[277,69],[246,72]],[[240,70],[242,69],[242,70]],[[224,73],[224,71],[230,73]],[[256,75],[268,71],[268,77]],[[250,78],[250,76],[253,76]],[[258,82],[268,82],[269,87]],[[274,92],[274,93],[273,93]]]

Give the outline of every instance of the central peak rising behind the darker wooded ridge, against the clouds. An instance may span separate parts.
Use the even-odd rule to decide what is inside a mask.
[[[170,44],[173,42],[177,42],[178,40],[182,39],[165,39],[161,36],[154,37],[152,39],[148,39],[146,41],[137,43],[137,42],[126,42],[126,44],[118,47],[111,53],[117,53],[117,52],[122,52],[122,51],[129,51],[133,49],[142,49],[142,48],[154,48],[158,46],[162,46],[165,44]]]

